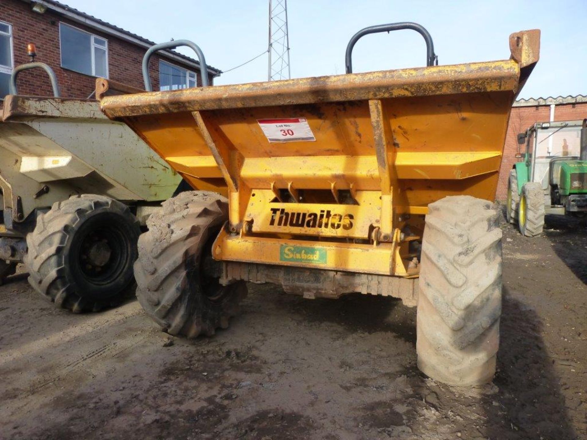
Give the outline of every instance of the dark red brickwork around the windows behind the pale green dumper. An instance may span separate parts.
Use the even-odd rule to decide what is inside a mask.
[[[55,70],[63,97],[85,98],[89,96],[95,88],[96,77],[60,67],[59,22],[75,26],[108,40],[110,79],[129,86],[144,88],[141,72],[141,63],[146,51],[144,48],[73,22],[50,11],[50,9],[47,9],[43,14],[33,12],[30,4],[20,0],[2,0],[0,2],[0,20],[12,25],[14,66],[29,62],[29,58],[26,56],[26,45],[27,43],[35,43],[37,53],[35,61],[47,63]],[[175,60],[168,61],[182,66]],[[151,57],[149,67],[153,90],[158,90],[159,57],[157,55]],[[183,67],[193,70],[189,66],[183,65]],[[19,94],[52,95],[49,79],[42,70],[26,70],[19,73],[16,85]],[[201,85],[200,75],[198,75],[198,85]]]

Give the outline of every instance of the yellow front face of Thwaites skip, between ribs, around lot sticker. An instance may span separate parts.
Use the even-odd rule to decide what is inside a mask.
[[[383,100],[393,133],[392,176],[400,181],[458,180],[484,174],[489,189],[483,194],[491,199],[512,99],[513,91]],[[322,189],[336,182],[341,188],[353,183],[356,189],[380,189],[366,102],[202,113],[211,136],[228,141],[242,157],[240,178],[250,188],[268,188],[271,182],[284,188],[291,181],[299,188]],[[257,123],[258,119],[292,116],[308,120],[316,141],[272,144]],[[214,158],[191,114],[131,117],[130,121],[157,153],[177,164],[177,171],[193,177],[221,177],[208,167]],[[396,204],[420,205],[409,189],[399,192],[402,186],[411,188],[402,182],[396,186]],[[443,186],[435,184],[435,189]],[[451,192],[447,188],[444,195]],[[436,191],[434,197],[444,195]]]

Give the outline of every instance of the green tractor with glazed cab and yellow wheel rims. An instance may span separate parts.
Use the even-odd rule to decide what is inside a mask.
[[[545,214],[587,215],[587,119],[534,124],[518,144],[526,150],[510,171],[508,221],[534,237]]]

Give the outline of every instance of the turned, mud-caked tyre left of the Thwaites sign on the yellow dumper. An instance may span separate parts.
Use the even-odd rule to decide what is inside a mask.
[[[163,331],[211,336],[238,312],[244,282],[222,286],[214,270],[212,243],[227,221],[227,199],[215,192],[187,191],[162,204],[139,238],[134,264],[137,298]]]

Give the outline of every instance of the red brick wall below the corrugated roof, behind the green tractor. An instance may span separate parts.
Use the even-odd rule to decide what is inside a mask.
[[[555,106],[554,120],[567,121],[578,120],[587,117],[587,103],[559,104]],[[500,180],[497,184],[497,200],[507,198],[508,176],[514,164],[518,161],[515,154],[518,153],[518,133],[522,133],[528,127],[537,122],[547,122],[550,119],[550,106],[513,107],[510,116],[510,124],[505,136],[504,157],[501,162]]]

